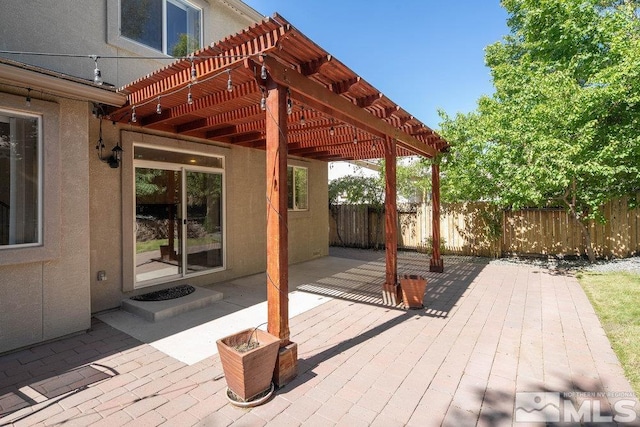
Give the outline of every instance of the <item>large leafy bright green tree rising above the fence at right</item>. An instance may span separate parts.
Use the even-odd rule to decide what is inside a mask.
[[[638,3],[502,1],[511,33],[486,50],[495,94],[442,114],[445,200],[564,206],[594,260],[589,221],[640,190]]]

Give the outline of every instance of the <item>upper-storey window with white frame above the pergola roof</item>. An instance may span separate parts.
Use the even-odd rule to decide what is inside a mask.
[[[202,41],[202,10],[183,0],[120,0],[120,34],[171,56]]]

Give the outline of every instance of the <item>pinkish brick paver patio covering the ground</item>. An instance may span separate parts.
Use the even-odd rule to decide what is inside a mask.
[[[361,261],[298,286],[333,299],[291,319],[299,375],[267,404],[230,405],[217,355],[186,365],[94,320],[85,334],[0,356],[0,426],[512,425],[516,409],[535,409],[516,406],[516,392],[545,405],[565,392],[561,407],[601,420],[640,411],[573,277],[473,258],[425,273],[428,259],[401,254],[401,273],[429,281],[426,308],[404,311],[372,291],[383,253],[341,254]]]

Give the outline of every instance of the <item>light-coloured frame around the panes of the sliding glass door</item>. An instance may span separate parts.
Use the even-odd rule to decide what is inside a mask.
[[[141,144],[142,145],[142,144]],[[182,151],[182,150],[171,150],[171,149],[165,149],[165,148],[159,148],[159,147],[153,147],[156,150],[162,150],[162,151],[178,151],[178,152],[185,152],[185,153],[189,153],[188,151]],[[196,154],[199,156],[207,156],[207,157],[216,157],[216,158],[220,158],[220,156],[209,156],[207,154],[204,153],[192,153],[192,154]],[[219,272],[219,271],[223,271],[226,269],[227,266],[227,227],[226,227],[226,180],[225,180],[225,170],[224,170],[224,158],[222,158],[223,161],[223,168],[213,168],[213,167],[205,167],[205,166],[195,166],[195,165],[188,165],[188,164],[182,164],[182,163],[170,163],[170,162],[161,162],[161,161],[154,161],[154,160],[133,160],[133,176],[134,176],[134,180],[133,180],[133,184],[134,184],[134,189],[133,189],[133,219],[134,219],[134,232],[133,232],[133,247],[134,247],[134,251],[133,251],[133,257],[134,257],[134,262],[133,262],[133,279],[134,279],[134,289],[140,289],[140,288],[145,288],[148,286],[154,286],[154,285],[158,285],[161,283],[167,283],[167,282],[172,282],[172,281],[177,281],[177,280],[181,280],[181,279],[185,279],[188,277],[196,277],[196,276],[202,276],[202,275],[206,275],[206,274],[211,274],[211,273],[215,273],[215,272]],[[159,278],[155,278],[155,279],[149,279],[149,280],[144,280],[144,281],[138,281],[137,280],[137,272],[136,272],[136,262],[135,262],[135,258],[137,256],[137,253],[135,251],[135,247],[136,247],[136,243],[137,243],[137,233],[136,233],[136,207],[137,207],[137,196],[136,196],[136,189],[135,189],[135,175],[136,175],[136,170],[138,168],[146,168],[146,169],[158,169],[158,170],[168,170],[168,171],[174,171],[174,172],[178,172],[180,173],[180,195],[181,195],[181,200],[180,200],[180,212],[179,212],[179,216],[180,216],[180,232],[179,235],[180,237],[180,257],[181,257],[181,268],[182,268],[182,272],[179,272],[177,274],[172,274],[172,275],[167,275],[167,276],[163,276],[163,277],[159,277]],[[221,230],[221,235],[222,235],[222,265],[220,267],[215,267],[215,268],[211,268],[211,269],[207,269],[204,271],[196,271],[196,272],[189,272],[188,264],[187,264],[187,257],[188,254],[186,252],[187,250],[187,224],[186,221],[188,220],[187,218],[187,203],[186,203],[186,193],[187,193],[187,172],[201,172],[201,173],[209,173],[209,174],[220,174],[221,175],[221,189],[222,189],[222,195],[221,195],[221,222],[222,222],[222,230]]]

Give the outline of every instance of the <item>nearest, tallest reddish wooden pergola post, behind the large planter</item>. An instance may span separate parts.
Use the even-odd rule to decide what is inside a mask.
[[[270,84],[266,99],[267,330],[280,338],[274,372],[279,387],[297,375],[297,345],[289,341],[289,242],[287,233],[287,91]]]

